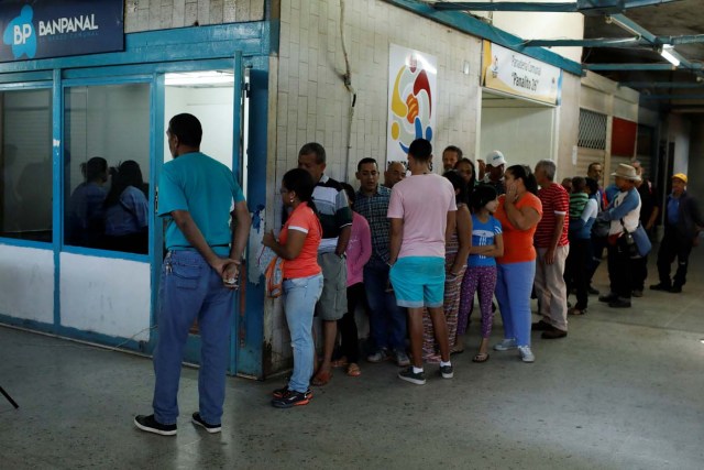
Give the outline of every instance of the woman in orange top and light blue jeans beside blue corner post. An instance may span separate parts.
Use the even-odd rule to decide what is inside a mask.
[[[274,391],[272,405],[277,408],[307,405],[312,393],[308,387],[312,375],[312,316],[322,292],[322,271],[318,265],[318,245],[322,237],[320,221],[312,203],[316,184],[308,172],[290,170],[282,182],[282,203],[293,211],[282,228],[278,241],[273,232],[262,243],[284,260],[284,311],[294,347],[294,372],[288,385]]]

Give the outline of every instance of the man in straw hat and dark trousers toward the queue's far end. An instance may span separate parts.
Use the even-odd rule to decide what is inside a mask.
[[[640,217],[640,195],[636,183],[640,176],[636,168],[620,164],[612,173],[619,193],[603,212],[600,220],[610,220],[608,229],[608,281],[610,292],[598,297],[612,308],[629,308],[631,295],[630,253],[624,231],[632,232],[638,228]]]

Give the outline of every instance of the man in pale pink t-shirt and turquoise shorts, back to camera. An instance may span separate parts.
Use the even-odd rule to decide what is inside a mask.
[[[416,139],[408,149],[410,176],[397,183],[388,204],[391,219],[391,280],[397,304],[408,308],[413,365],[398,376],[422,385],[422,309],[428,308],[440,345],[440,374],[452,379],[448,326],[442,308],[444,295],[444,240],[454,230],[454,188],[430,171],[432,146]]]

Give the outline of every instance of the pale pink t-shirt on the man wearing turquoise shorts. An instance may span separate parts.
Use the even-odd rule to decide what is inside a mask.
[[[396,183],[388,203],[389,219],[404,219],[398,258],[444,258],[448,212],[458,210],[454,188],[448,178],[435,173],[413,175]]]

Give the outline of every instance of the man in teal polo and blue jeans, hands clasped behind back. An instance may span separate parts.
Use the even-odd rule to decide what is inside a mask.
[[[162,168],[158,184],[158,215],[167,220],[168,253],[158,298],[154,414],[136,416],[134,424],[148,433],[176,434],[180,363],[197,318],[200,401],[193,422],[219,433],[234,289],[251,218],[232,171],[200,153],[202,128],[195,116],[172,118],[166,135],[174,160]]]

